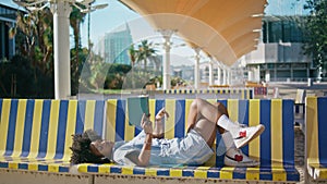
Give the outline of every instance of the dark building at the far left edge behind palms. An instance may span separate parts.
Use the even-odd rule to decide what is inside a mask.
[[[9,30],[16,22],[17,11],[12,3],[0,2],[0,62],[15,54],[15,39],[9,37]]]

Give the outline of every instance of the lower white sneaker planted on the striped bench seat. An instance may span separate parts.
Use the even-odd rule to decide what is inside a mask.
[[[228,167],[257,167],[261,164],[259,161],[253,160],[245,156],[241,149],[231,148],[225,155],[225,165]]]

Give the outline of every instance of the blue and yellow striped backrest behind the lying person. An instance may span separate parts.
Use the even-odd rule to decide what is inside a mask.
[[[111,110],[116,112],[116,135],[119,135],[116,140],[125,139],[124,134],[131,131],[131,125],[124,123],[125,101],[110,100],[110,103],[117,103]],[[113,102],[116,101],[116,102]],[[189,108],[193,99],[167,99],[167,100],[150,100],[152,114],[156,114],[162,107],[170,113],[170,118],[166,122],[166,138],[183,137],[186,131]],[[216,100],[211,100],[214,102]],[[246,125],[257,125],[259,123],[266,126],[264,134],[250,143],[249,146],[242,148],[245,154],[258,158],[262,165],[269,170],[271,168],[282,168],[294,165],[292,150],[293,146],[293,112],[290,110],[293,107],[292,100],[219,100],[228,110],[232,121],[238,121]],[[112,114],[108,113],[109,114]],[[120,114],[120,115],[118,115]],[[154,118],[154,115],[153,115]],[[111,115],[107,119],[113,119]],[[111,123],[112,124],[112,123]],[[132,127],[132,131],[136,127]],[[134,133],[132,133],[133,135]],[[221,137],[218,134],[216,143],[220,142]],[[216,145],[215,145],[216,146]],[[214,147],[216,149],[216,147]],[[215,161],[215,165],[222,165],[223,156],[216,156],[210,159]],[[210,163],[208,163],[210,164]]]

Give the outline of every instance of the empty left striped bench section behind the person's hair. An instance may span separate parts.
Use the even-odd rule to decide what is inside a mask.
[[[0,170],[69,173],[71,135],[102,130],[105,105],[0,99]]]

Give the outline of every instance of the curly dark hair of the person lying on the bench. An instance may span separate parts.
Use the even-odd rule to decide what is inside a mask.
[[[89,149],[93,140],[101,139],[101,137],[92,130],[87,130],[82,134],[72,135],[73,145],[70,149],[73,151],[70,162],[78,163],[108,163],[110,160],[94,155]]]

